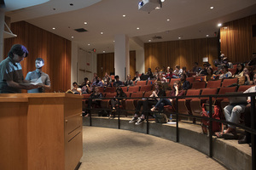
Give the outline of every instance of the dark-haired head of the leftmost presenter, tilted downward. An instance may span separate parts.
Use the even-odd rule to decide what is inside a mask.
[[[11,59],[14,59],[15,62],[20,63],[24,58],[28,55],[28,51],[26,47],[21,44],[15,44],[12,48],[10,48],[8,56]]]

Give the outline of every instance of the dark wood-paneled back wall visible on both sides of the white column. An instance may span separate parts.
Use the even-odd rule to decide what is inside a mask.
[[[136,51],[130,51],[130,73],[134,76],[136,70]],[[114,72],[114,53],[97,54],[97,75],[104,77],[105,72]],[[118,75],[118,73],[116,73]]]

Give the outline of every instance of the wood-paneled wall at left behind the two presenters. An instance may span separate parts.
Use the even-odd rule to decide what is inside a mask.
[[[21,62],[24,77],[28,71],[36,69],[35,59],[41,57],[43,71],[51,81],[49,92],[67,91],[71,84],[71,42],[25,21],[11,24],[11,30],[18,36],[4,39],[4,56],[7,57],[15,43],[24,45],[29,52]]]

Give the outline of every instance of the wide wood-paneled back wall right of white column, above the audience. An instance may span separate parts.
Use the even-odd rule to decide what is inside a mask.
[[[193,68],[194,62],[202,65],[202,59],[208,57],[209,63],[212,59],[218,59],[218,38],[202,38],[192,40],[180,40],[171,42],[145,43],[145,71],[159,66],[175,65],[186,66],[187,70]]]

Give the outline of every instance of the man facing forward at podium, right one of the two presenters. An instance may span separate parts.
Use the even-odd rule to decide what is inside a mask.
[[[43,85],[41,88],[34,88],[31,90],[27,90],[27,93],[29,93],[29,94],[44,93],[45,89],[50,88],[49,76],[48,76],[48,74],[46,74],[42,71],[42,68],[44,66],[44,59],[37,58],[35,64],[36,64],[37,69],[35,71],[28,72],[26,74],[26,80],[30,81],[30,82],[43,83]]]

